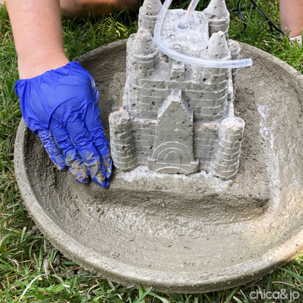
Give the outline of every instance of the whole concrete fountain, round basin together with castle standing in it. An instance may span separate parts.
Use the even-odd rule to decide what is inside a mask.
[[[228,42],[223,0],[203,12],[193,3],[164,13],[169,1],[145,0],[127,51],[120,41],[79,58],[119,169],[109,188],[57,171],[24,121],[17,132],[16,178],[36,224],[67,257],[127,286],[229,288],[303,246],[303,77]],[[240,47],[253,67],[235,68],[251,64]]]

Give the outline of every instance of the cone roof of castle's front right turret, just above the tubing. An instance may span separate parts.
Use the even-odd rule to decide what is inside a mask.
[[[213,33],[207,44],[207,57],[210,59],[223,59],[230,55],[230,50],[222,31]]]

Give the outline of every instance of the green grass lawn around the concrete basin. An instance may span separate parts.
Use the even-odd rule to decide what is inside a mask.
[[[201,1],[200,7],[206,3]],[[243,7],[248,4],[242,1]],[[258,4],[278,24],[277,1]],[[228,1],[228,7],[235,8],[236,1]],[[243,14],[247,29],[241,33],[243,23],[236,12],[231,12],[231,37],[266,50],[303,72],[302,47],[293,47],[286,37],[270,32],[256,10],[248,9]],[[137,30],[136,15],[64,19],[63,30],[65,51],[73,59],[128,37]],[[258,289],[297,291],[301,299],[296,302],[303,301],[302,256],[241,287],[207,294],[155,294],[151,290],[125,288],[87,273],[52,248],[22,206],[14,178],[13,145],[21,112],[13,89],[18,79],[17,60],[5,8],[0,10],[0,41],[0,302],[253,302],[249,293]]]

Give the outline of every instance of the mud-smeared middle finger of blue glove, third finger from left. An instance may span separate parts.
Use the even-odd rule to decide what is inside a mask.
[[[99,153],[96,147],[94,147],[80,116],[69,118],[66,123],[66,130],[86,166],[90,178],[102,187],[107,187],[109,181],[106,179],[105,169],[103,165],[101,165]]]

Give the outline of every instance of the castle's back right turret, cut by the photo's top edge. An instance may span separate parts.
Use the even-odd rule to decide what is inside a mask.
[[[205,15],[209,18],[209,35],[222,31],[228,40],[230,13],[226,8],[224,0],[212,0],[204,10]]]

